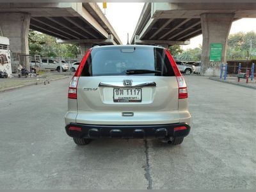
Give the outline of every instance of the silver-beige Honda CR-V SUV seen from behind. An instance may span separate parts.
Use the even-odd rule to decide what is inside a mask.
[[[190,118],[186,83],[163,47],[93,47],[69,85],[65,128],[77,145],[102,137],[177,145],[189,134]]]

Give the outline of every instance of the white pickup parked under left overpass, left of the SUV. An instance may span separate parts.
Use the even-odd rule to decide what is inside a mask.
[[[42,58],[41,61],[32,60],[30,62],[30,67],[31,68],[42,67],[42,68],[51,69],[51,70],[58,70],[58,72],[60,72],[60,61],[49,59],[49,58]],[[68,63],[64,60],[61,60],[61,68],[63,72],[67,71]]]

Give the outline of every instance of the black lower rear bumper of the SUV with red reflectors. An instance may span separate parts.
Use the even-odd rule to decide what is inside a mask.
[[[74,138],[175,138],[189,134],[186,123],[164,125],[88,125],[70,123],[66,127],[68,136]]]

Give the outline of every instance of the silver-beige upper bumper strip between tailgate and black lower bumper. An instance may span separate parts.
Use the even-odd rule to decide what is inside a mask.
[[[123,116],[123,113],[133,116]],[[74,121],[74,118],[76,120]],[[190,124],[191,115],[188,111],[68,111],[65,123],[92,125],[158,125],[185,122]]]

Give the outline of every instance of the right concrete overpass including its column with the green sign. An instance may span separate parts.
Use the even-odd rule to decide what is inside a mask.
[[[226,61],[227,38],[234,20],[256,18],[256,1],[172,0],[172,3],[145,3],[131,44],[186,45],[203,34],[202,73],[218,76]],[[246,3],[248,2],[248,3]],[[220,61],[210,61],[210,46],[221,44]]]

